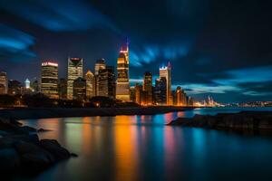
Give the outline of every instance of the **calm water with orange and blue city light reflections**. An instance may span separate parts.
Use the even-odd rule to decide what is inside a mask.
[[[52,130],[40,138],[56,138],[79,157],[25,180],[272,180],[272,138],[165,126],[177,117],[239,110],[27,119],[25,125]]]

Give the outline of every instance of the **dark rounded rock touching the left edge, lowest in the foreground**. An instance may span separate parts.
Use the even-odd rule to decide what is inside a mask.
[[[20,167],[20,157],[15,148],[0,149],[0,170],[11,172]]]

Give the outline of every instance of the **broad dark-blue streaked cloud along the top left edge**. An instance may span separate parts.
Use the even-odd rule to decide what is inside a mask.
[[[50,31],[77,31],[91,28],[109,28],[117,31],[106,16],[83,0],[0,0],[0,7]]]

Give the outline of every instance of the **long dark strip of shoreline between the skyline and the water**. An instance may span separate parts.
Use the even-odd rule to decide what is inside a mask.
[[[51,119],[117,115],[154,115],[193,110],[194,107],[140,107],[140,108],[20,108],[0,110],[0,118]]]

